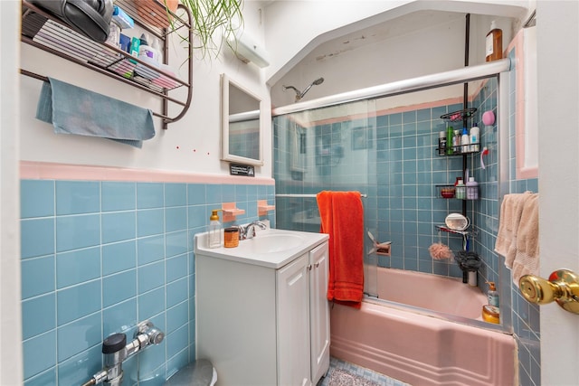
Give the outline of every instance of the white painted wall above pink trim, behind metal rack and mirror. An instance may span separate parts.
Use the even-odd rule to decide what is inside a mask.
[[[259,20],[257,3],[248,2],[244,8],[244,27],[262,39],[263,25]],[[28,44],[22,46],[22,68],[53,77],[85,89],[103,93],[129,103],[158,109],[154,96],[116,80],[81,68]],[[185,60],[185,50],[176,43],[170,47],[170,63]],[[183,75],[185,69],[181,69]],[[223,52],[211,61],[195,58],[194,96],[185,118],[169,124],[163,130],[156,121],[157,135],[144,141],[142,149],[121,145],[107,139],[55,135],[49,124],[34,118],[42,81],[22,76],[21,154],[26,161],[55,162],[77,165],[107,165],[138,169],[161,169],[204,174],[229,174],[228,164],[220,162],[220,80],[222,72],[234,77],[270,105],[269,90],[265,86],[264,71],[254,64],[237,60],[231,52]],[[169,114],[171,115],[171,114]],[[266,122],[270,112],[265,111]],[[268,126],[269,127],[269,124]],[[264,132],[266,149],[271,144],[271,130]],[[177,148],[178,147],[178,148]],[[257,176],[271,176],[271,154],[265,153],[265,163],[256,167]]]

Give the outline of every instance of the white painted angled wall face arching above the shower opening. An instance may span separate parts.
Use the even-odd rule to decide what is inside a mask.
[[[277,0],[265,9],[265,43],[272,59],[267,80],[270,85],[277,83],[322,42],[404,14],[438,10],[522,18],[530,3],[520,0]]]

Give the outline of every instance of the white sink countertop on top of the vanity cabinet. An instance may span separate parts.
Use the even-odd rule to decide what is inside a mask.
[[[227,259],[247,264],[258,265],[267,268],[281,268],[293,259],[299,258],[310,249],[314,249],[319,244],[329,239],[325,233],[312,233],[304,231],[286,231],[277,229],[256,230],[257,235],[248,240],[240,240],[236,248],[209,248],[207,247],[207,232],[195,235],[195,255],[204,255],[217,259]],[[266,239],[275,240],[279,238],[280,250],[275,251],[256,251],[253,249],[258,243]],[[289,245],[287,248],[283,245],[284,239],[298,240],[298,245]],[[271,240],[268,240],[271,242]]]

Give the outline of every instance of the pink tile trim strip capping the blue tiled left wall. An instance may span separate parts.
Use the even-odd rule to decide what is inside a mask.
[[[52,164],[21,161],[20,178],[26,180],[135,181],[185,184],[273,185],[273,178],[242,177],[226,174],[198,174],[126,167]]]

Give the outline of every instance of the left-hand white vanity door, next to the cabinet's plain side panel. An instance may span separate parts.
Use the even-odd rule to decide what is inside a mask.
[[[308,254],[277,272],[278,385],[309,385]]]

